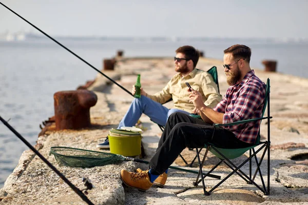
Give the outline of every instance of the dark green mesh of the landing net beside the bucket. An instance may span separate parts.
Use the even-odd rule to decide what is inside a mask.
[[[69,147],[51,147],[51,154],[60,166],[68,167],[91,168],[125,160],[122,155]]]

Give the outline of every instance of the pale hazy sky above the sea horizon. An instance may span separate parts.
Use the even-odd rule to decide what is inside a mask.
[[[0,0],[50,35],[308,38],[308,1]],[[0,5],[0,34],[34,32]]]

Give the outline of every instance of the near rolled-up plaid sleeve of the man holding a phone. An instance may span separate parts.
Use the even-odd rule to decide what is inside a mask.
[[[254,112],[263,103],[262,93],[254,86],[244,86],[239,90],[238,97],[235,100],[234,106],[231,110],[226,108],[226,112],[223,115],[223,124],[236,122],[245,119],[251,119]],[[233,125],[232,129],[238,129],[242,125]],[[224,126],[226,129],[230,126]]]

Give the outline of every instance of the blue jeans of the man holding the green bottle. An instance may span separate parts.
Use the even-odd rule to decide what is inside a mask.
[[[135,126],[142,113],[146,114],[153,122],[165,126],[168,117],[175,112],[190,113],[179,109],[168,109],[160,103],[141,95],[141,98],[134,98],[128,111],[121,120],[118,129],[121,127]]]

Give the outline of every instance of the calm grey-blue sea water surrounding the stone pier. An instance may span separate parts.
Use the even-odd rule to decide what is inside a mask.
[[[179,46],[192,45],[206,57],[222,59],[223,50],[233,44],[252,48],[251,66],[263,68],[263,59],[278,61],[278,72],[308,77],[308,43],[266,43],[256,40],[182,40],[180,42],[134,42],[62,40],[66,47],[97,69],[102,59],[124,50],[125,56],[174,56]],[[48,39],[0,42],[0,116],[34,145],[39,125],[54,115],[53,94],[75,90],[97,72]],[[23,142],[0,122],[0,188],[16,167]]]

